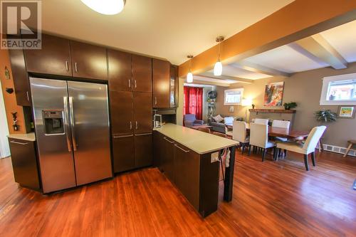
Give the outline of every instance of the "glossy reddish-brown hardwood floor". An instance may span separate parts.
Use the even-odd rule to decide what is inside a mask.
[[[355,236],[356,158],[316,158],[305,172],[298,154],[236,152],[234,199],[205,219],[157,169],[43,196],[0,159],[0,236]]]

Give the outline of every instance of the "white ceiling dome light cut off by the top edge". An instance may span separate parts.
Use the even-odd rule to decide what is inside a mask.
[[[80,0],[90,9],[100,14],[119,14],[126,4],[126,0]]]

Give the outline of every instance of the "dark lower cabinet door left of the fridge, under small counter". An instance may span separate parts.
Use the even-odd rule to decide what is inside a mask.
[[[41,189],[34,142],[9,138],[14,178],[21,186]]]

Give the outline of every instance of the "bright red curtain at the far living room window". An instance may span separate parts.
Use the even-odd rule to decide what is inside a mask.
[[[203,88],[184,86],[183,114],[193,114],[197,120],[203,117]]]

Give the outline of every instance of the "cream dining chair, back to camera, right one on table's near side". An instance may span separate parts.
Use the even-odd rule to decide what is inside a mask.
[[[268,148],[276,147],[276,143],[268,140],[268,125],[258,123],[250,124],[250,145],[248,146],[248,155],[251,154],[251,147],[259,147],[262,149],[262,162],[265,159]],[[273,150],[273,154],[276,151]]]

